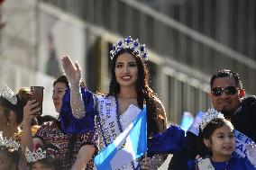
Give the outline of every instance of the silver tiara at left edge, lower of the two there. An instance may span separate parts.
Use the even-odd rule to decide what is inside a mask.
[[[0,131],[0,148],[6,148],[8,151],[13,152],[19,150],[20,144],[13,139],[6,139],[3,136],[3,131]]]

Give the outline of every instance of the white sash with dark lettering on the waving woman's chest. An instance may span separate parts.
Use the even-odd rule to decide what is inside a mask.
[[[121,125],[116,112],[116,101],[114,96],[97,95],[97,99],[98,122],[105,140],[105,146],[107,146],[121,133]]]

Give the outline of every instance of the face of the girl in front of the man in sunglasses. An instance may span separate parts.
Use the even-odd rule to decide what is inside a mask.
[[[228,125],[224,125],[216,129],[211,139],[205,140],[205,144],[209,146],[213,152],[213,161],[228,160],[235,148],[232,128]]]

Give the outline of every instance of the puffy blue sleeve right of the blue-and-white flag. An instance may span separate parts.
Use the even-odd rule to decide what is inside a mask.
[[[184,130],[178,126],[171,125],[169,129],[162,133],[156,133],[151,139],[148,139],[148,153],[173,154],[183,146],[185,138]]]

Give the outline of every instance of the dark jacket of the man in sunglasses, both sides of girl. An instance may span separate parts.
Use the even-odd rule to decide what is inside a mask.
[[[256,96],[251,95],[242,100],[241,107],[233,114],[231,121],[235,130],[256,142]],[[197,156],[197,136],[187,132],[183,148],[173,155],[169,170],[187,170],[187,161]]]

